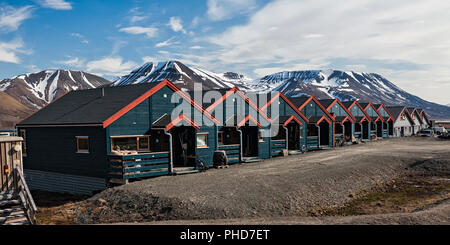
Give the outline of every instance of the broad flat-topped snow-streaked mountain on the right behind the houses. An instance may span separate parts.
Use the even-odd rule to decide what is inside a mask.
[[[288,97],[314,95],[319,99],[383,103],[423,108],[432,117],[450,116],[450,108],[414,96],[381,75],[338,70],[279,72],[265,76],[251,86],[255,91],[280,91]]]

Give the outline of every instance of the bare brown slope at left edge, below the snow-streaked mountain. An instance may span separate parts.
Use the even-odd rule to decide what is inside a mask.
[[[12,128],[33,111],[10,95],[0,91],[0,128]]]

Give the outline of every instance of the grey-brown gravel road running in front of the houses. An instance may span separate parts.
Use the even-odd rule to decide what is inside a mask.
[[[450,158],[449,141],[385,139],[138,181],[81,203],[77,216],[80,223],[308,216],[437,157]]]

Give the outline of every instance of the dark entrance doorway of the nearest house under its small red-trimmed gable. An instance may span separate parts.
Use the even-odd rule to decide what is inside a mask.
[[[193,127],[175,127],[172,133],[172,151],[174,167],[195,166],[195,129]]]

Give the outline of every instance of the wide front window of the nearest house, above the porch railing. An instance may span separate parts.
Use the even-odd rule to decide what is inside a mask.
[[[150,151],[150,137],[149,136],[111,137],[111,150]]]

